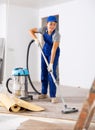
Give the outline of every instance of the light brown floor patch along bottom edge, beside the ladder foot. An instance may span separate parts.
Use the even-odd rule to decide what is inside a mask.
[[[44,121],[27,120],[17,128],[17,130],[74,130],[74,121],[64,120],[61,123],[49,123]],[[95,124],[91,124],[88,130],[95,130]]]

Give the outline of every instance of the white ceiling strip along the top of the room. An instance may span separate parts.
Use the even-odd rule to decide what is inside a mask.
[[[1,2],[8,2],[12,5],[20,5],[32,8],[44,8],[61,3],[65,3],[72,0],[0,0]]]

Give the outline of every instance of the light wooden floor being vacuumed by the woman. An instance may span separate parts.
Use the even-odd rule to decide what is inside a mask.
[[[40,89],[40,84],[35,84],[38,89]],[[82,108],[82,104],[87,98],[89,93],[89,89],[83,89],[80,87],[67,87],[67,86],[59,86],[61,91],[57,91],[57,96],[59,98],[58,104],[52,104],[48,99],[46,100],[38,100],[37,95],[33,95],[33,103],[38,104],[42,107],[45,107],[45,111],[43,112],[24,112],[24,113],[16,113],[20,116],[27,116],[28,119],[22,122],[17,130],[73,130],[75,123],[78,119],[80,110]],[[31,91],[31,88],[29,88]],[[60,93],[61,92],[61,93]],[[48,94],[49,95],[49,94]],[[66,103],[70,107],[76,107],[79,109],[78,113],[72,114],[62,114],[61,110],[62,101],[60,96],[64,98]],[[6,110],[0,110],[1,113],[9,114]],[[15,114],[15,113],[11,113]],[[35,118],[35,119],[33,119]],[[95,116],[92,120],[92,123],[89,127],[89,130],[95,130]]]

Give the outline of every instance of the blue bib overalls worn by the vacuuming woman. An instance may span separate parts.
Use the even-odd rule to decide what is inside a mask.
[[[48,63],[50,63],[50,59],[51,59],[51,50],[52,50],[52,46],[53,46],[52,36],[54,33],[55,33],[55,31],[53,31],[51,35],[48,35],[47,32],[45,32],[43,34],[45,44],[44,44],[42,50],[43,50],[43,53],[44,53]],[[54,63],[53,63],[53,74],[54,74],[55,79],[57,78],[56,67],[58,65],[59,55],[60,55],[60,48],[58,47],[56,50],[55,59],[54,59]],[[46,63],[44,61],[43,56],[41,56],[41,82],[42,82],[41,93],[47,94],[48,83],[49,83],[50,97],[56,97],[56,89],[57,88],[56,88],[55,83],[53,82],[53,79],[52,79],[50,73],[47,70],[47,66],[46,66]]]

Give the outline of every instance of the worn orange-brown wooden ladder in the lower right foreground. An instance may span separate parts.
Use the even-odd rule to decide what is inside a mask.
[[[76,122],[74,130],[88,130],[92,117],[95,113],[95,79],[90,89],[88,98],[83,104],[79,118]]]

